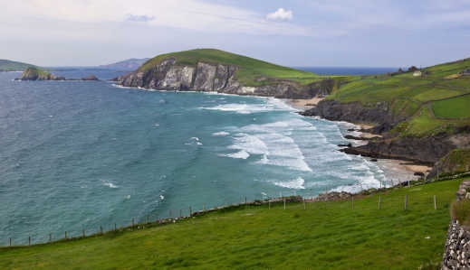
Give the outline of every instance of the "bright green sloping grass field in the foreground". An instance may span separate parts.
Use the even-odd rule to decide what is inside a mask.
[[[379,194],[357,198],[354,209],[350,201],[242,207],[132,232],[2,248],[0,267],[416,269],[442,259],[459,182],[379,193],[381,209]]]

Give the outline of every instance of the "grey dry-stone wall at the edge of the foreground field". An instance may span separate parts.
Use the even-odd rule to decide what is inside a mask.
[[[467,197],[470,180],[460,184],[457,200]],[[452,220],[447,231],[446,247],[442,269],[470,269],[470,232],[462,228],[457,220]]]

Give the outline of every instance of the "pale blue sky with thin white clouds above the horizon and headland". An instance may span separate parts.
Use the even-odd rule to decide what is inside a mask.
[[[0,59],[93,66],[195,48],[285,66],[470,57],[470,0],[0,0]]]

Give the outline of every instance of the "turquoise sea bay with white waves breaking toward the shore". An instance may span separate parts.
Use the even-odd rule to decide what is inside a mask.
[[[0,73],[0,246],[387,178],[337,151],[350,126],[278,99],[12,81],[19,75]]]

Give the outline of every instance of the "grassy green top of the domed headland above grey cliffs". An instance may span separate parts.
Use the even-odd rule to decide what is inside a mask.
[[[238,66],[239,70],[236,73],[236,79],[240,80],[245,86],[261,85],[269,82],[269,79],[291,79],[302,84],[321,79],[321,76],[310,72],[294,70],[292,68],[286,68],[265,61],[214,49],[197,49],[160,54],[144,63],[139,70],[148,70],[168,58],[175,58],[177,63],[181,65],[196,66],[197,62],[204,61]],[[263,77],[264,80],[257,79],[260,77]]]

